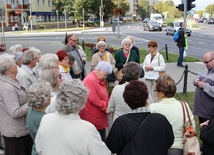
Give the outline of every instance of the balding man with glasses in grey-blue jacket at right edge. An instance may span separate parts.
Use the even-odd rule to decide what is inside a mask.
[[[214,114],[214,51],[207,52],[203,62],[207,68],[193,81],[196,86],[193,114],[200,123]]]

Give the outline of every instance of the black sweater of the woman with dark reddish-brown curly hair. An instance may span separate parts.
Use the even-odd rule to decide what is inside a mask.
[[[150,116],[138,129],[148,114]],[[108,148],[118,155],[167,155],[173,142],[172,126],[166,117],[149,112],[118,117],[106,139]]]

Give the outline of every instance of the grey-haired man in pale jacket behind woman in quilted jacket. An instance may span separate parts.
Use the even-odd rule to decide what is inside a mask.
[[[40,56],[35,54],[33,50],[27,50],[22,56],[22,66],[18,71],[16,76],[17,80],[25,90],[28,90],[28,87],[37,82],[36,74],[33,72],[33,68],[38,63]]]

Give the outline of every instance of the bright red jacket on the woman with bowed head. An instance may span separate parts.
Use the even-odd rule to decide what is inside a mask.
[[[89,95],[85,107],[80,111],[80,117],[94,124],[97,129],[104,129],[108,126],[105,111],[109,100],[105,80],[99,80],[92,71],[84,78],[83,83],[88,88]]]

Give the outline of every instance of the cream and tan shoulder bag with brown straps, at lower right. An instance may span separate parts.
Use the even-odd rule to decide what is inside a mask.
[[[197,133],[192,127],[192,121],[190,119],[189,111],[187,105],[181,101],[183,110],[183,155],[201,155],[200,145],[197,137]],[[186,127],[186,115],[187,113],[189,119],[189,126]]]

